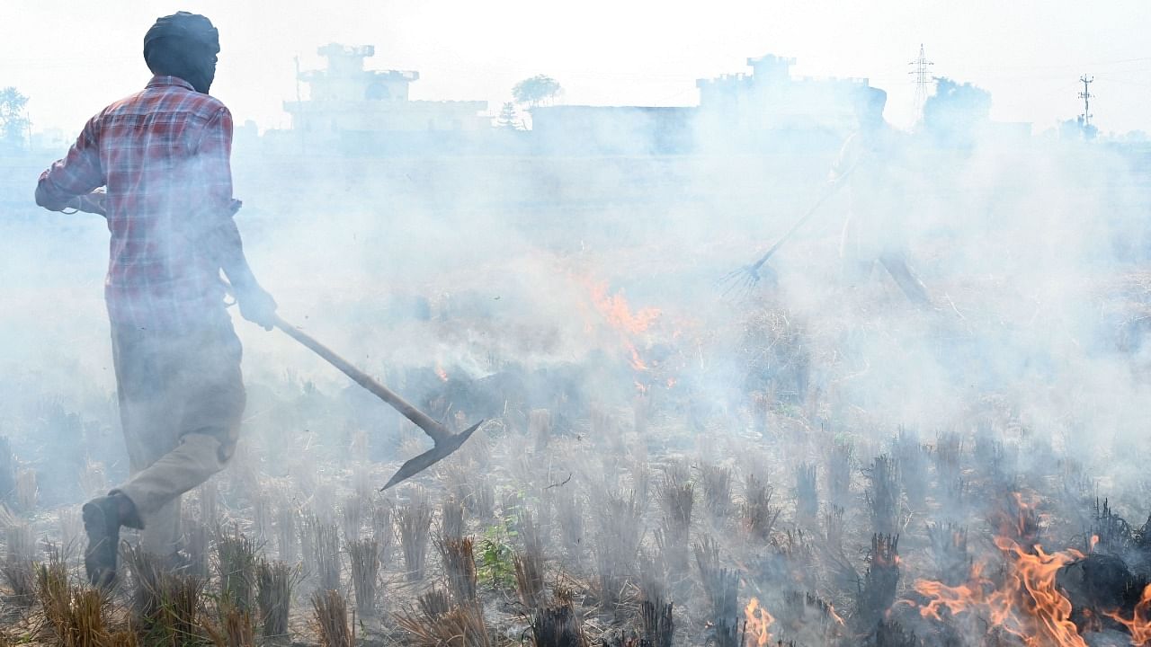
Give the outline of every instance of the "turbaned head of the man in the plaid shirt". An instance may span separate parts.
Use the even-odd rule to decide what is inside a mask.
[[[198,14],[162,16],[144,35],[144,61],[152,74],[182,78],[205,94],[215,78],[219,52],[220,33]]]

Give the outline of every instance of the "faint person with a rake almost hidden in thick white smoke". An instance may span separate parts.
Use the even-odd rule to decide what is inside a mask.
[[[883,90],[860,90],[854,104],[859,127],[831,170],[832,182],[847,184],[851,203],[839,252],[849,284],[867,281],[878,261],[912,303],[928,306],[927,288],[907,266],[907,146],[883,119],[886,104]]]

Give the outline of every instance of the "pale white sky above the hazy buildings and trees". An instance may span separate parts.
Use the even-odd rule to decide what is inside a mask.
[[[212,93],[237,122],[288,127],[292,58],[318,46],[375,45],[369,67],[421,75],[417,99],[481,99],[557,78],[562,102],[695,105],[695,79],[745,71],[749,56],[794,56],[798,75],[868,77],[909,125],[908,62],[920,43],[933,73],[991,91],[992,116],[1035,131],[1078,114],[1093,74],[1103,131],[1151,131],[1151,1],[1103,0],[0,0],[0,86],[31,98],[33,128],[75,132],[148,73],[144,32],[185,9],[220,29]]]

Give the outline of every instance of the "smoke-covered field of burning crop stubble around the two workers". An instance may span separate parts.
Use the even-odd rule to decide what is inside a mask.
[[[381,475],[426,450],[427,437],[237,322],[252,442],[196,495],[183,549],[197,579],[169,581],[163,595],[182,601],[159,607],[192,609],[181,611],[189,635],[251,641],[234,622],[244,606],[219,606],[233,569],[208,568],[224,542],[209,531],[228,518],[252,538],[257,561],[283,562],[258,562],[254,588],[237,596],[254,595],[251,624],[300,644],[341,644],[358,626],[371,626],[367,640],[429,646],[503,641],[509,631],[536,647],[1145,642],[1149,488],[1135,457],[1151,402],[1142,349],[1151,283],[1143,260],[1120,265],[1111,244],[1145,238],[1127,221],[1138,220],[1145,190],[1104,184],[1129,169],[1102,146],[931,144],[895,192],[915,204],[883,211],[914,215],[901,231],[914,241],[907,262],[936,307],[904,303],[883,264],[860,276],[845,267],[841,216],[853,206],[844,195],[772,258],[773,286],[764,279],[741,304],[715,299],[703,283],[786,230],[788,214],[822,191],[839,145],[364,155],[356,176],[336,154],[323,158],[331,168],[242,157],[237,187],[275,188],[272,174],[284,169],[298,180],[245,197],[257,206],[238,219],[254,234],[257,265],[295,259],[269,279],[284,312],[361,353],[366,371],[449,426],[493,421],[435,478],[420,477],[422,507],[410,489],[389,490],[396,503],[376,492]],[[382,204],[387,213],[365,206]],[[87,224],[46,235],[16,220],[3,227],[30,249],[60,238],[40,245],[59,252],[45,258],[102,245]],[[76,324],[102,317],[92,299],[71,298],[91,277],[79,262],[54,287],[77,317],[58,321],[35,298],[24,299],[28,314],[2,314],[17,357],[21,340],[60,347],[29,351],[35,371],[0,372],[22,375],[6,393],[29,401],[3,412],[12,442],[0,447],[0,494],[29,524],[3,524],[6,555],[23,555],[6,558],[9,589],[35,591],[45,536],[77,536],[70,519],[45,523],[53,509],[127,471],[96,355],[106,335]],[[45,408],[31,402],[40,397],[64,403],[43,425]],[[63,477],[44,469],[59,449],[36,435],[45,425],[83,448],[76,460],[68,452]],[[699,470],[685,475],[685,457]],[[426,557],[436,534],[443,580]],[[468,536],[501,545],[500,584],[482,556],[479,581],[470,578]],[[351,599],[326,591],[322,614],[308,612],[306,596],[294,607],[300,560],[308,589],[355,591],[356,617],[373,622],[349,624]],[[125,562],[132,592],[150,577]],[[491,603],[511,595],[509,576],[512,611]],[[417,581],[388,587],[407,578]],[[556,591],[561,578],[573,593]],[[432,583],[448,585],[442,600],[392,623],[388,609],[418,604]],[[142,607],[162,621],[154,601]],[[315,622],[288,623],[307,615]],[[121,616],[107,614],[105,630],[122,629]],[[394,624],[404,637],[378,631]]]

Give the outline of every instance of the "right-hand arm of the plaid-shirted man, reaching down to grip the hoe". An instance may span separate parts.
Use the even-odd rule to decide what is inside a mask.
[[[220,108],[206,124],[196,160],[205,178],[204,248],[228,276],[244,319],[270,330],[276,302],[252,274],[234,219],[241,201],[231,197],[231,113],[227,108]]]

